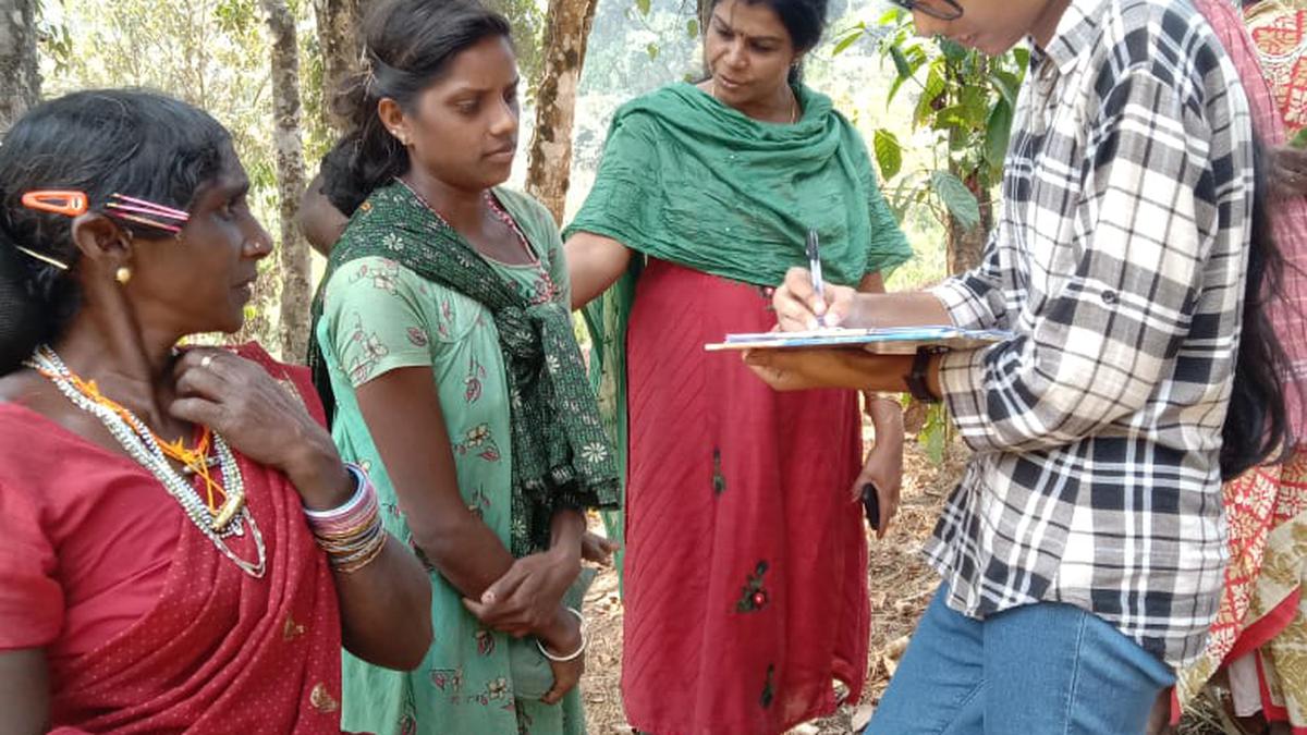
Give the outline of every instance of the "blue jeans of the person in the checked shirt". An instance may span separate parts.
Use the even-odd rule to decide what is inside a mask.
[[[940,585],[867,735],[1133,735],[1171,668],[1100,617],[1060,603],[975,620]]]

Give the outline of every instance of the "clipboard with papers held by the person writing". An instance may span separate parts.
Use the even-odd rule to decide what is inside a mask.
[[[958,327],[881,327],[870,330],[812,330],[806,332],[752,332],[727,335],[703,345],[707,352],[738,349],[861,348],[878,354],[912,354],[918,348],[979,349],[1012,339],[1005,330]]]

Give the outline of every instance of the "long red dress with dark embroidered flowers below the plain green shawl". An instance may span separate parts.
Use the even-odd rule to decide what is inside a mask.
[[[870,613],[853,391],[778,394],[727,332],[757,286],[650,259],[627,337],[622,698],[657,735],[767,734],[857,701]]]

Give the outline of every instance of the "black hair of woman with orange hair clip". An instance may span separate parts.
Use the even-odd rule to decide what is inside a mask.
[[[218,177],[230,140],[203,110],[129,89],[74,92],[13,124],[0,144],[0,375],[55,340],[81,303],[72,220],[29,209],[22,195],[80,191],[98,211],[123,194],[188,211],[197,190]],[[118,222],[132,237],[159,237]]]

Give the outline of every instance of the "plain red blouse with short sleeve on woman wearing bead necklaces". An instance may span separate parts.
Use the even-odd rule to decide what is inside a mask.
[[[58,671],[142,617],[180,515],[131,458],[0,403],[0,649],[46,647]]]

